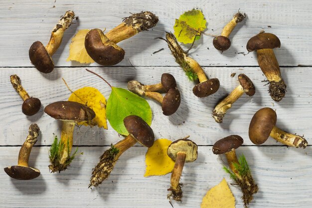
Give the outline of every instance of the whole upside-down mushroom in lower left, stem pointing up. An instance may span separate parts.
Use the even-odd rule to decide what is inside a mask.
[[[21,146],[18,154],[17,166],[9,166],[4,168],[4,172],[13,179],[31,180],[40,175],[40,171],[28,166],[29,155],[32,146],[37,142],[39,135],[39,127],[37,124],[31,124],[28,130],[26,141]]]

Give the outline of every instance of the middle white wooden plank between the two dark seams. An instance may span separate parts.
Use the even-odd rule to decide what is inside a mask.
[[[8,68],[0,70],[0,145],[21,145],[30,123],[36,122],[41,129],[41,139],[37,145],[50,145],[53,133],[60,135],[61,122],[43,113],[43,107],[49,103],[67,100],[70,92],[64,85],[63,77],[71,89],[83,86],[98,88],[106,98],[110,95],[109,86],[85,68],[61,68],[55,72],[42,75],[34,68]],[[274,102],[268,94],[268,86],[264,86],[265,79],[259,67],[218,67],[206,68],[207,75],[218,77],[221,83],[219,91],[207,98],[197,98],[192,94],[194,84],[189,82],[179,67],[114,67],[92,68],[102,75],[109,83],[116,87],[127,88],[127,82],[137,79],[144,84],[154,84],[160,81],[160,74],[168,72],[175,76],[181,91],[181,105],[172,116],[164,116],[158,103],[148,99],[153,111],[152,128],[156,138],[178,138],[190,135],[198,145],[213,145],[218,139],[231,134],[238,134],[245,139],[245,145],[252,145],[248,139],[249,122],[253,114],[262,107],[276,109],[277,125],[292,133],[305,135],[310,141],[312,83],[307,77],[312,76],[311,67],[286,67],[282,74],[288,85],[287,94],[280,102]],[[230,77],[235,72],[235,77]],[[42,102],[42,109],[38,115],[27,117],[21,113],[22,101],[9,82],[9,75],[16,73],[20,76],[24,88],[31,96],[38,97]],[[211,117],[218,100],[231,92],[238,84],[237,75],[245,73],[254,82],[257,92],[250,99],[244,95],[234,103],[232,109],[225,115],[224,123],[217,124]],[[120,140],[118,134],[109,126],[108,130],[88,127],[75,129],[74,145],[110,145]],[[269,139],[267,145],[279,145]]]

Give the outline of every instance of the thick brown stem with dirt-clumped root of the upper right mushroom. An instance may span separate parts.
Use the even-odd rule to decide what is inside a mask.
[[[273,49],[258,49],[257,56],[259,66],[270,82],[270,96],[277,102],[281,101],[286,93],[286,84],[282,79],[279,62]]]

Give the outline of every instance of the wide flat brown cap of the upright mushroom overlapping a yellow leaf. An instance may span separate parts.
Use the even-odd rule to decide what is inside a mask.
[[[73,101],[58,101],[44,108],[44,112],[55,119],[73,122],[91,121],[95,112],[86,105]]]

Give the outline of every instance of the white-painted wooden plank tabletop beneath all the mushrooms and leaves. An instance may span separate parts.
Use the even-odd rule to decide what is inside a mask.
[[[222,27],[240,11],[248,18],[240,23],[230,36],[232,46],[220,54],[212,45],[212,38],[202,36],[195,43],[190,56],[196,59],[209,77],[218,77],[221,87],[207,98],[192,94],[189,82],[176,64],[163,40],[165,31],[173,31],[174,19],[183,11],[201,8],[207,21],[207,33],[220,34]],[[74,10],[79,16],[76,24],[65,32],[62,45],[54,54],[55,69],[42,74],[28,58],[32,42],[48,42],[50,33],[60,15]],[[119,45],[126,51],[125,59],[113,67],[101,67],[77,62],[66,62],[73,35],[84,28],[111,28],[117,26],[129,13],[149,10],[159,17],[155,28],[142,32]],[[181,91],[178,111],[166,117],[153,100],[152,128],[156,138],[176,140],[190,135],[197,145],[198,159],[185,164],[181,183],[183,202],[174,208],[199,208],[205,193],[223,177],[232,181],[222,170],[222,160],[213,155],[212,145],[219,139],[238,134],[244,146],[237,153],[244,154],[259,192],[254,195],[251,208],[311,208],[312,207],[312,148],[287,148],[270,138],[265,145],[255,146],[248,138],[249,122],[261,107],[276,109],[278,126],[286,131],[312,138],[312,2],[309,0],[15,0],[0,2],[0,167],[17,163],[17,155],[25,140],[28,126],[37,123],[41,136],[30,155],[30,165],[40,169],[41,175],[31,181],[17,181],[0,171],[0,207],[105,207],[105,208],[170,208],[166,199],[170,174],[144,178],[146,148],[137,145],[126,151],[118,161],[109,180],[96,189],[88,189],[92,168],[111,143],[120,140],[109,126],[108,130],[83,127],[75,129],[74,145],[84,154],[76,157],[68,170],[51,174],[48,170],[48,148],[52,133],[60,135],[61,123],[43,113],[47,104],[67,100],[70,92],[62,77],[72,89],[83,86],[98,88],[106,98],[110,88],[98,77],[86,72],[87,67],[99,73],[113,86],[127,88],[127,82],[137,79],[145,84],[156,83],[161,73],[175,76]],[[276,34],[282,42],[275,54],[287,83],[285,98],[271,100],[261,82],[265,79],[256,54],[246,56],[250,37],[264,29]],[[107,30],[107,31],[108,31]],[[164,50],[153,54],[153,52]],[[133,65],[133,66],[132,66]],[[254,82],[257,92],[251,98],[243,96],[228,111],[223,124],[217,124],[211,112],[218,100],[237,85],[237,76],[245,73]],[[41,99],[38,114],[26,117],[21,113],[21,99],[9,82],[9,75],[17,74],[31,96]],[[241,208],[239,188],[230,185]]]

